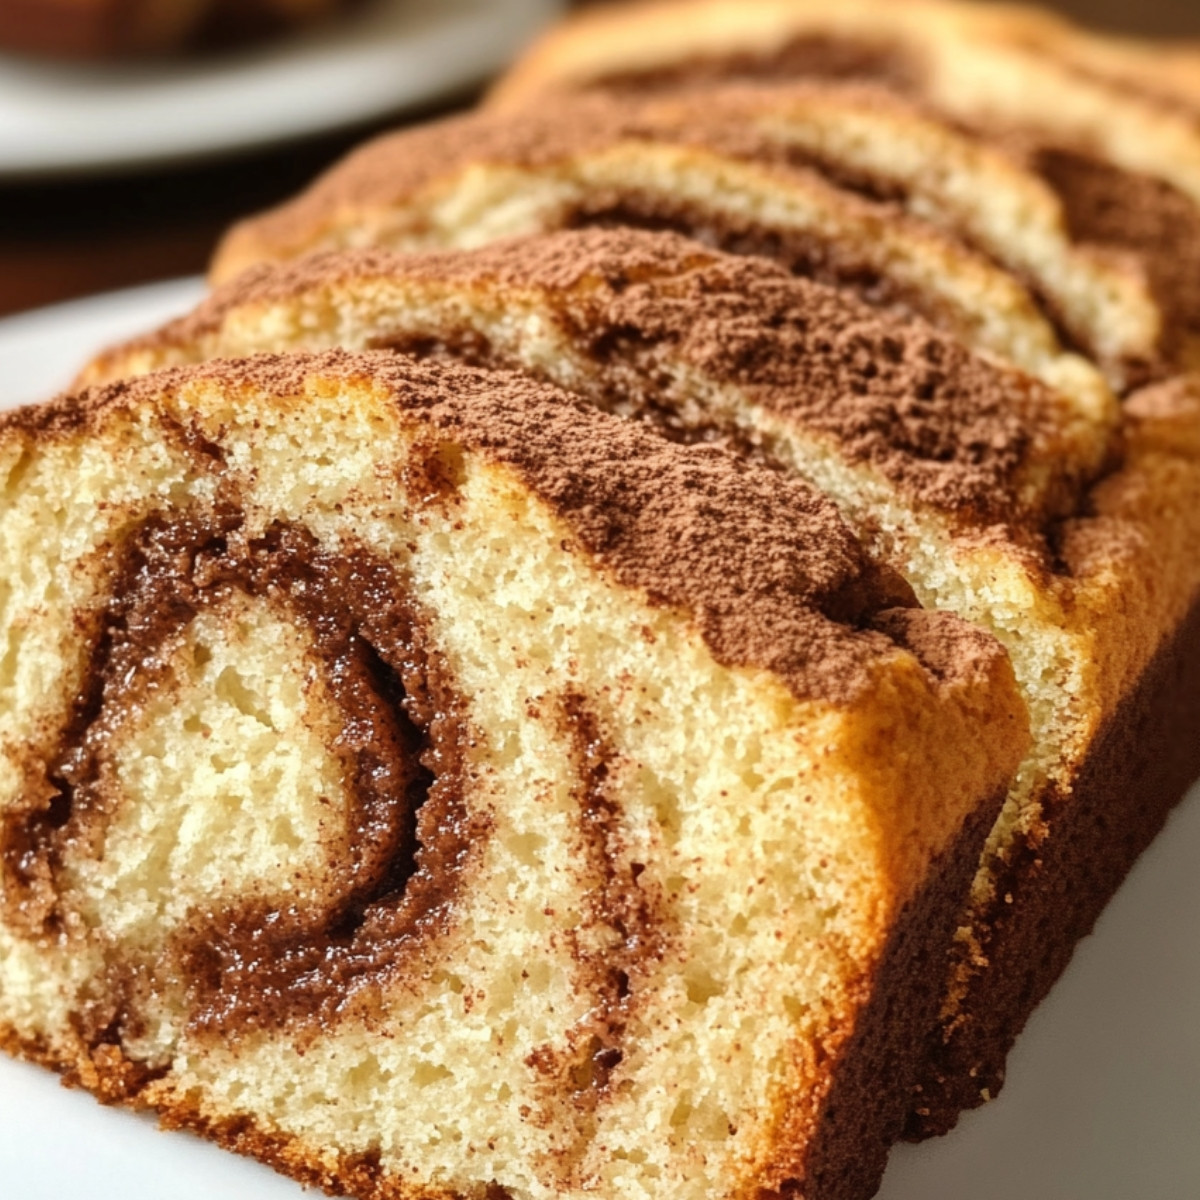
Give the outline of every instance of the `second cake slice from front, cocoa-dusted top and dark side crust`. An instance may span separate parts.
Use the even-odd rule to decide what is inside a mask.
[[[1034,748],[964,917],[913,1130],[994,1094],[1032,1007],[1200,770],[1187,388],[1142,394],[1114,431],[929,326],[768,263],[599,230],[264,268],[90,377],[331,344],[517,367],[671,438],[764,455],[832,496],[924,604],[1006,644]],[[1166,664],[1171,688],[1154,682]],[[1154,755],[1130,751],[1134,728]]]

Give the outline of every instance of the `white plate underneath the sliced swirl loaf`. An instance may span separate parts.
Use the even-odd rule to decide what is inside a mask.
[[[182,280],[0,322],[0,404],[48,395],[106,342],[182,312],[200,292],[199,280]],[[1000,1099],[948,1138],[899,1146],[878,1200],[1200,1198],[1196,863],[1200,786],[1030,1021]],[[304,1195],[265,1168],[4,1058],[0,1181],[0,1195],[20,1200]]]

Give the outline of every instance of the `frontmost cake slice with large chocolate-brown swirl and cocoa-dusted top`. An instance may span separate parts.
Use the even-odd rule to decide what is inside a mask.
[[[997,643],[499,371],[160,373],[0,457],[11,1046],[338,1194],[872,1193]]]

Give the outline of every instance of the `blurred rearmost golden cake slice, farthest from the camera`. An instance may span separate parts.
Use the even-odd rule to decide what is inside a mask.
[[[1195,365],[1198,62],[997,5],[667,0],[565,22],[500,84],[493,107],[521,108],[544,91],[859,80],[985,137],[1015,134],[1030,168],[1060,196],[1073,235],[1136,264],[1182,332],[1177,360]],[[935,179],[940,167],[931,168]]]

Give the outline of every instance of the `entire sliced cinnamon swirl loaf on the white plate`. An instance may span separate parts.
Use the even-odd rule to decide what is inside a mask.
[[[8,1043],[380,1200],[865,1200],[994,1094],[1200,772],[1147,54],[589,13],[8,418]]]

